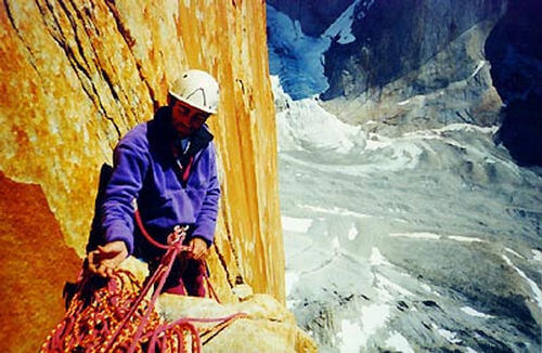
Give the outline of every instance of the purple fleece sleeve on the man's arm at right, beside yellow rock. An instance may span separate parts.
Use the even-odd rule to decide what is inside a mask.
[[[215,238],[218,207],[220,200],[220,181],[218,180],[215,144],[209,144],[209,184],[207,193],[196,218],[194,237],[203,238],[208,246]]]

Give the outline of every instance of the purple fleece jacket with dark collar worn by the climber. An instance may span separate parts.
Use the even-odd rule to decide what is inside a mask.
[[[189,178],[183,182],[181,168],[173,157],[167,107],[155,118],[128,132],[114,152],[114,170],[102,204],[105,240],[122,240],[129,253],[152,259],[152,245],[134,228],[133,200],[143,223],[153,237],[166,243],[177,224],[190,225],[189,236],[212,243],[220,198],[212,135],[204,126],[191,136],[182,165],[192,157]]]

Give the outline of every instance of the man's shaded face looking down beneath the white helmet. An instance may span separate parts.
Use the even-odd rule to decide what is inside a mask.
[[[199,129],[209,117],[208,113],[196,109],[179,100],[171,99],[171,126],[179,138],[188,138]]]

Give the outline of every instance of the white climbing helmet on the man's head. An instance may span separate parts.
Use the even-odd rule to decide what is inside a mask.
[[[182,73],[170,87],[169,94],[203,112],[217,113],[218,82],[205,71],[192,69]]]

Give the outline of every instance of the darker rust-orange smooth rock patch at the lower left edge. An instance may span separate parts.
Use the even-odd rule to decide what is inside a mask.
[[[16,183],[0,172],[0,348],[37,352],[63,316],[62,286],[67,275],[77,274],[80,259],[64,243],[39,185]]]

